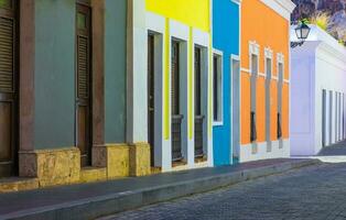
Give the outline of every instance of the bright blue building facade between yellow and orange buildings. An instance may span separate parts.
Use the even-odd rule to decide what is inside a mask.
[[[234,164],[231,133],[231,79],[233,58],[239,57],[238,0],[217,0],[213,3],[214,47],[214,164]],[[218,76],[219,75],[219,76]],[[217,88],[218,87],[218,88]]]

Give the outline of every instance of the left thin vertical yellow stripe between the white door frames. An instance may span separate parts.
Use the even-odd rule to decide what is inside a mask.
[[[170,36],[170,19],[165,19],[165,50],[164,50],[164,75],[163,75],[163,128],[164,128],[164,140],[170,139],[171,134],[171,124],[170,124],[170,45],[171,45],[171,36]]]

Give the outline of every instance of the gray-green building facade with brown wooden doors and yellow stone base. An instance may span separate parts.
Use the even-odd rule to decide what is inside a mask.
[[[127,112],[128,3],[1,1],[0,177],[31,178],[0,190],[150,173]]]

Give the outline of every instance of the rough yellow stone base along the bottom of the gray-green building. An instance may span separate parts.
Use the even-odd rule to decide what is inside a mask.
[[[24,178],[0,179],[0,193],[151,174],[148,143],[95,146],[91,161],[93,167],[80,168],[77,147],[20,152],[19,176]]]

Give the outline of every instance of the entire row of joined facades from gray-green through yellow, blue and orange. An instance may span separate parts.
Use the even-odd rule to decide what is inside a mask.
[[[293,7],[0,1],[0,191],[288,156]]]

